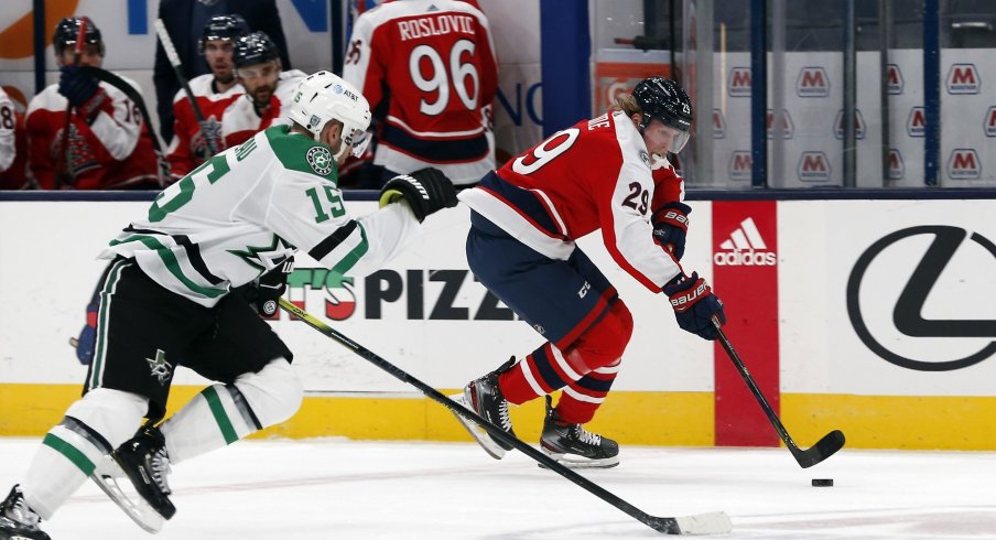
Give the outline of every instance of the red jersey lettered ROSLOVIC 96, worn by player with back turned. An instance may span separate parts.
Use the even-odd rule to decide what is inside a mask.
[[[488,21],[459,0],[405,0],[356,19],[343,78],[370,100],[383,179],[425,166],[473,185],[495,169],[498,63]],[[380,111],[383,117],[380,117]]]

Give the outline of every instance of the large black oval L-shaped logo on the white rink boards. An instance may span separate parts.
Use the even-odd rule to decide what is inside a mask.
[[[862,289],[872,291],[873,294],[869,296],[880,302],[883,295],[875,292],[886,285],[881,283],[881,276],[887,276],[885,279],[895,279],[896,271],[912,266],[908,252],[902,252],[894,246],[920,236],[932,237],[932,241],[921,259],[913,262],[912,273],[892,306],[891,321],[883,321],[885,317],[880,311],[876,312],[876,315],[869,314],[875,312],[876,306],[873,305],[875,302],[866,300],[863,303]],[[965,241],[966,238],[968,242]],[[988,253],[988,257],[983,256],[979,259],[979,249]],[[963,255],[965,252],[975,257],[968,258]],[[952,263],[954,260],[959,263]],[[869,278],[876,267],[889,270],[887,273],[879,270],[878,279]],[[942,281],[944,273],[954,278]],[[994,290],[996,282],[992,280],[994,274],[996,274],[996,245],[978,233],[946,225],[900,229],[869,246],[855,262],[847,281],[847,314],[855,333],[865,346],[891,364],[918,371],[961,369],[996,354],[996,318],[970,316],[973,313],[962,314],[961,310],[957,315],[964,318],[953,313],[934,314],[930,310],[930,296],[957,295],[956,301],[949,301],[946,304],[962,309],[977,306],[984,314],[992,314],[992,300],[996,295]],[[979,279],[981,276],[988,276],[989,279]],[[964,287],[971,293],[953,290],[950,284],[952,279],[959,283],[967,282]],[[935,287],[941,282],[944,282],[945,287]],[[897,337],[897,334],[901,337]],[[929,354],[928,347],[918,346],[917,342],[920,339],[933,339],[931,343],[941,343],[941,346],[934,346],[931,349],[933,354]],[[938,339],[940,342],[937,342]],[[974,352],[970,354],[963,352],[972,343],[982,343],[986,339],[988,343],[981,345],[981,348],[973,347]],[[905,345],[906,353],[899,350],[900,345]],[[913,357],[916,355],[909,350],[917,350],[922,356]],[[937,350],[942,350],[944,357],[939,358]]]

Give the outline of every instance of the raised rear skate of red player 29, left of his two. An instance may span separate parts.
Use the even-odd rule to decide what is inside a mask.
[[[516,357],[513,356],[498,369],[479,379],[472,380],[470,384],[464,388],[463,396],[451,396],[451,399],[476,412],[479,417],[496,426],[501,428],[501,430],[510,436],[516,436],[516,432],[512,431],[512,421],[508,415],[508,401],[505,399],[505,396],[501,395],[501,389],[498,387],[498,375],[510,368],[515,363]],[[474,440],[477,441],[477,444],[480,444],[480,447],[491,457],[500,460],[505,457],[507,451],[512,450],[511,444],[491,436],[484,428],[477,425],[477,423],[467,420],[459,414],[454,413],[454,415],[459,420],[459,423],[466,428]]]

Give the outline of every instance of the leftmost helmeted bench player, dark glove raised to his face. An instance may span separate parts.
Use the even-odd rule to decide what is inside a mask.
[[[74,45],[82,18],[63,19],[52,39],[59,66],[58,84],[28,105],[30,165],[44,190],[121,190],[160,187],[159,161],[152,136],[138,107],[120,89],[80,72],[100,67],[105,46],[100,30],[87,18],[79,65]],[[121,77],[139,93],[138,84]],[[68,137],[66,106],[72,105]],[[68,139],[68,150],[63,141]]]

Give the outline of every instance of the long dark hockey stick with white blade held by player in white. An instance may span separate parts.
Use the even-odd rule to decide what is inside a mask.
[[[470,411],[466,407],[451,400],[436,389],[431,386],[422,382],[421,380],[412,377],[408,372],[403,371],[399,367],[385,360],[376,353],[370,349],[364,347],[362,345],[357,344],[353,339],[349,339],[345,335],[340,334],[335,328],[328,326],[322,321],[315,318],[313,315],[308,314],[306,311],[297,307],[292,304],[284,298],[280,299],[280,306],[286,311],[288,313],[296,316],[297,318],[304,321],[312,328],[317,330],[318,332],[325,334],[327,337],[331,337],[333,341],[338,343],[339,345],[345,346],[346,348],[353,350],[357,355],[361,356],[367,361],[374,364],[380,369],[387,371],[396,379],[407,382],[415,388],[418,388],[422,393],[424,393],[427,398],[433,401],[442,404],[443,407],[450,409],[451,412],[455,414],[459,414],[467,420],[470,420],[483,429],[487,430],[491,436],[495,436],[501,440],[504,443],[507,443],[516,449],[518,449],[523,454],[535,460],[540,464],[544,465],[546,468],[555,472],[556,474],[567,478],[569,480],[577,484],[582,488],[586,489],[591,494],[600,498],[602,500],[608,503],[609,505],[615,506],[619,510],[622,510],[630,517],[637,519],[641,523],[650,527],[651,529],[658,532],[664,532],[667,534],[717,534],[722,532],[730,531],[730,521],[729,517],[726,514],[718,512],[710,512],[710,514],[699,514],[695,516],[684,516],[676,518],[662,518],[657,516],[651,516],[639,508],[630,505],[629,503],[622,500],[621,498],[613,495],[607,489],[602,486],[595,484],[594,482],[585,478],[584,476],[571,471],[570,468],[561,465],[546,454],[533,449],[531,445],[520,441],[519,439],[509,435],[504,430],[498,428],[497,425],[488,422],[487,420],[480,418],[475,412]]]

